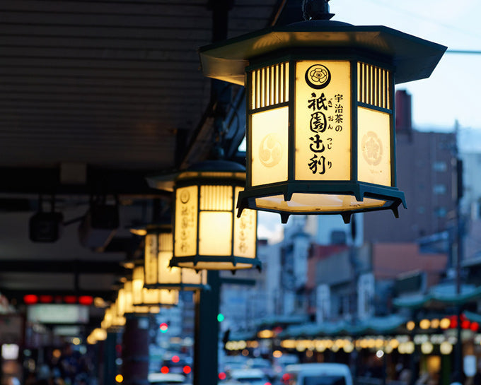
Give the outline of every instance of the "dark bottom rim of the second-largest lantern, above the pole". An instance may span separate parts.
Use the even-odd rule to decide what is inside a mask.
[[[180,268],[194,268],[195,270],[231,270],[236,271],[245,268],[261,269],[261,263],[257,258],[245,258],[240,256],[173,256],[170,266]]]

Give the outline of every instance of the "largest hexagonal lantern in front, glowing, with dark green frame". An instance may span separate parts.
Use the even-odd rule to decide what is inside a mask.
[[[383,26],[309,20],[199,49],[204,75],[245,85],[245,208],[291,214],[390,209],[394,85],[427,78],[446,47]]]

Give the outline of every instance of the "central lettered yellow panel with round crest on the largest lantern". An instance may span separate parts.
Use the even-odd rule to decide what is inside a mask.
[[[349,180],[350,62],[298,61],[294,117],[296,180]]]

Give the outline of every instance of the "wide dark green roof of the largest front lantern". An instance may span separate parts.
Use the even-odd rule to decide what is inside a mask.
[[[428,78],[447,47],[383,25],[308,20],[265,28],[199,49],[204,76],[244,85],[250,60],[295,49],[373,54],[395,67],[395,83]]]

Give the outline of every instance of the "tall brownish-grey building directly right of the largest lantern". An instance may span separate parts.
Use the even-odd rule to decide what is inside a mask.
[[[412,129],[410,95],[396,93],[396,171],[407,210],[364,215],[368,242],[417,242],[454,227],[456,218],[456,133]],[[399,105],[399,108],[398,108]]]

